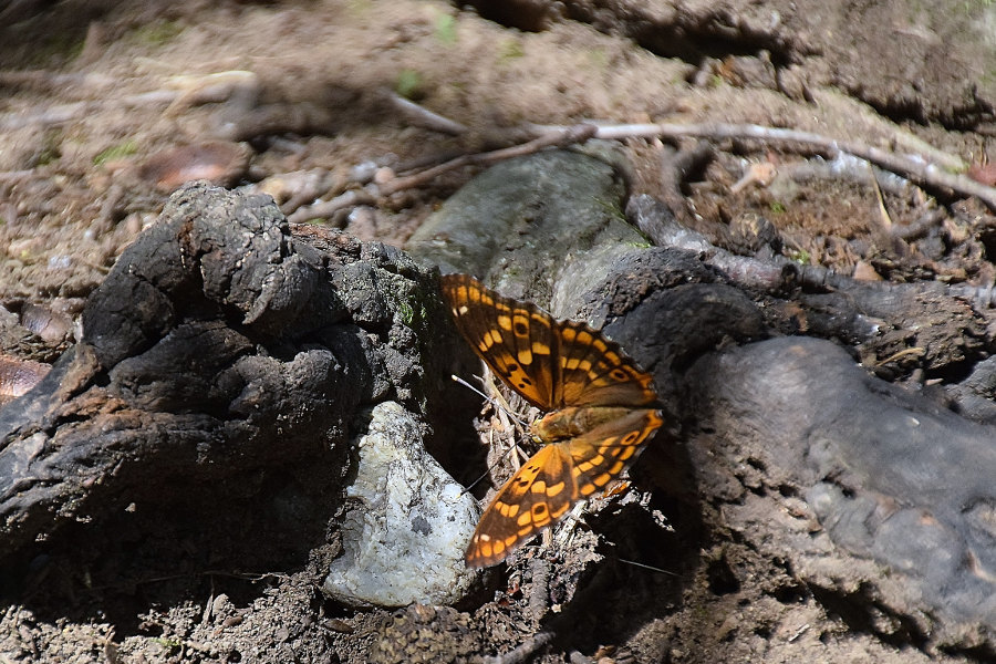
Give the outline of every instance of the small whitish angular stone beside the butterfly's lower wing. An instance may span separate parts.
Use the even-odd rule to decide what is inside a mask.
[[[353,606],[458,601],[476,575],[464,564],[479,516],[474,496],[429,456],[418,423],[396,403],[374,407],[357,447],[344,553],[324,591]]]

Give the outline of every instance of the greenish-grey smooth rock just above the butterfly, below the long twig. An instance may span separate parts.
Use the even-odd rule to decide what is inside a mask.
[[[625,167],[612,157],[559,149],[492,166],[427,219],[407,249],[444,273],[469,272],[571,318],[575,293],[649,247],[626,224]]]

